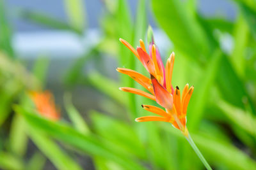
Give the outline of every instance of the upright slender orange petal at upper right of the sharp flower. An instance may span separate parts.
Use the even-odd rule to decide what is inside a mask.
[[[172,71],[173,71],[173,64],[174,64],[175,55],[172,52],[169,59],[166,62],[165,67],[165,76],[166,76],[166,90],[172,93]]]

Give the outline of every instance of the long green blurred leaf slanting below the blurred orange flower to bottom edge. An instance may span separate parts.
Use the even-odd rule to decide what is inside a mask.
[[[126,158],[121,153],[115,153],[113,148],[106,148],[100,141],[91,135],[84,135],[76,131],[67,124],[52,122],[45,118],[38,117],[35,113],[24,110],[19,106],[15,107],[17,113],[22,114],[34,131],[44,132],[52,138],[58,139],[63,143],[74,146],[80,152],[88,153],[93,156],[103,157],[104,159],[115,160],[126,169],[144,169],[140,164],[131,158]],[[37,138],[38,136],[36,136]]]

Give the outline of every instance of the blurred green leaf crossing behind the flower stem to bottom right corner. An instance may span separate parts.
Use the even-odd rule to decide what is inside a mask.
[[[163,125],[163,128],[172,135],[185,140],[184,136],[176,129],[168,125]],[[203,155],[205,155],[205,159],[210,160],[210,164],[214,163],[218,166],[224,164],[228,169],[256,169],[255,160],[248,157],[248,155],[232,146],[230,143],[217,141],[209,135],[202,136],[200,134],[191,134],[191,137],[196,145],[198,145]]]

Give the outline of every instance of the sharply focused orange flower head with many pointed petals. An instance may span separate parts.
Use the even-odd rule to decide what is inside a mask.
[[[150,73],[150,78],[131,69],[118,67],[116,71],[129,75],[133,80],[145,87],[150,94],[131,87],[121,87],[120,90],[147,97],[148,99],[156,101],[160,106],[165,108],[165,110],[162,110],[156,106],[142,105],[143,109],[156,113],[161,117],[140,117],[135,119],[136,122],[170,122],[174,127],[188,135],[188,130],[186,128],[186,113],[194,87],[192,86],[189,88],[189,85],[186,84],[182,94],[180,94],[179,87],[176,87],[175,90],[173,89],[172,71],[175,59],[174,53],[170,55],[164,69],[161,56],[157,46],[154,44],[154,41],[149,45],[149,54],[147,53],[145,44],[141,39],[140,47],[137,47],[136,50],[124,39],[120,38],[120,41],[141,61],[148,73]]]

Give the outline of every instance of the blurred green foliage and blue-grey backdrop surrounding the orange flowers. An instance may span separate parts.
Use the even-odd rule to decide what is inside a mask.
[[[256,169],[256,1],[0,1],[0,169],[204,169],[186,139],[150,115],[137,83],[145,69],[118,40],[147,43],[173,86],[195,90],[191,137],[213,169]],[[29,92],[49,90],[57,121]]]

